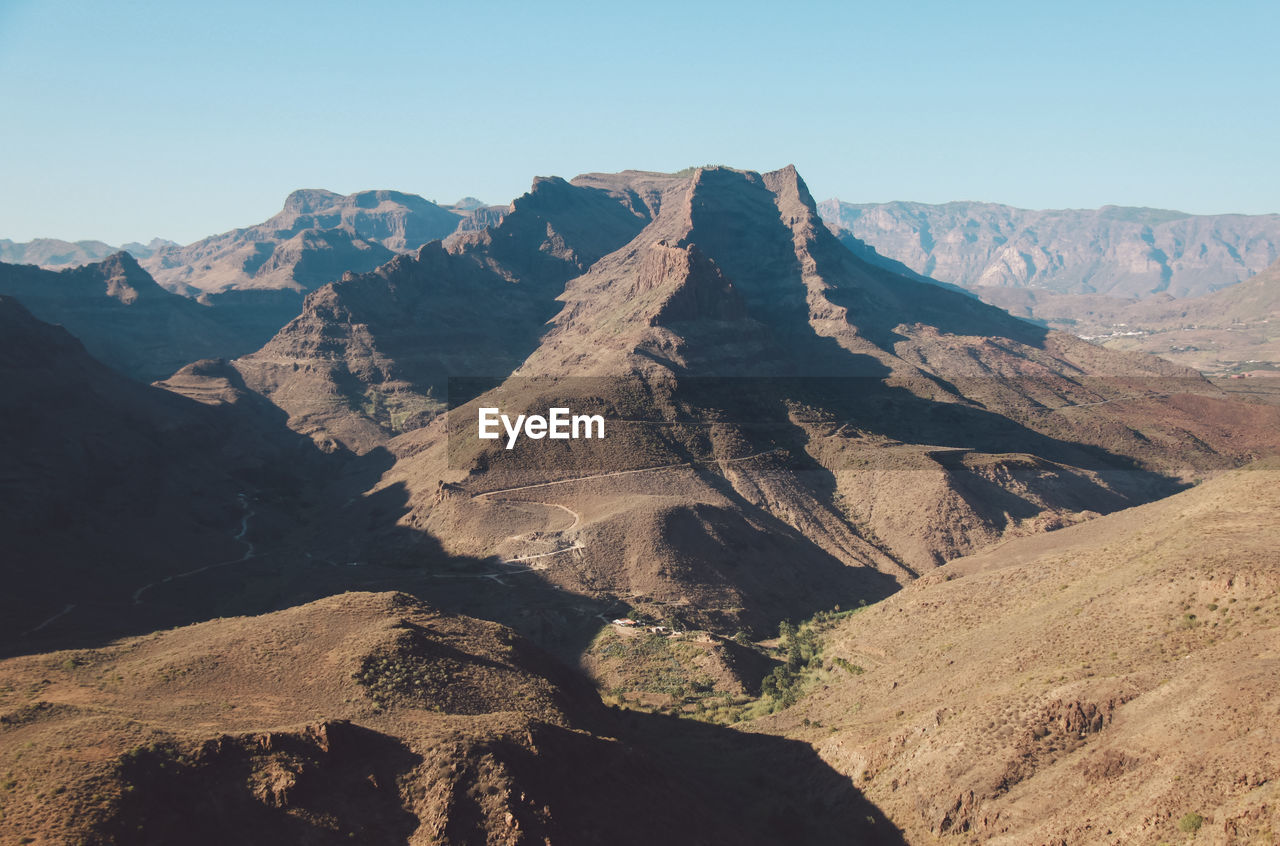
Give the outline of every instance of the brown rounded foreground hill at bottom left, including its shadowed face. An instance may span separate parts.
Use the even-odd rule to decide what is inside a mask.
[[[658,732],[654,732],[658,733]],[[799,744],[600,708],[509,630],[344,594],[0,662],[12,842],[901,842]],[[672,742],[675,741],[675,742]],[[708,755],[708,758],[713,758]],[[698,773],[698,778],[692,777]]]

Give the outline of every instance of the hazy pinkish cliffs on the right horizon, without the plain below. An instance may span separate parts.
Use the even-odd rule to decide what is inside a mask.
[[[1193,297],[1280,259],[1280,215],[838,200],[823,202],[822,215],[881,255],[970,289]]]

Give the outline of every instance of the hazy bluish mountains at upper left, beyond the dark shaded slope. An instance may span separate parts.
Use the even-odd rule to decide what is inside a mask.
[[[503,214],[474,197],[445,207],[394,191],[296,191],[270,220],[187,246],[0,242],[0,294],[151,381],[252,352],[298,314],[306,292]]]

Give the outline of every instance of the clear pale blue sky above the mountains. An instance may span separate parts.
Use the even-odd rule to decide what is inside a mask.
[[[0,238],[705,163],[794,163],[819,200],[1280,211],[1277,45],[1275,0],[0,0]]]

